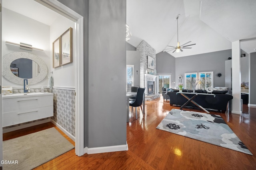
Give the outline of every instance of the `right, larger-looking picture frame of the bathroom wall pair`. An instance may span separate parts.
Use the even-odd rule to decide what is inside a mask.
[[[60,65],[72,63],[73,29],[68,28],[60,35]]]

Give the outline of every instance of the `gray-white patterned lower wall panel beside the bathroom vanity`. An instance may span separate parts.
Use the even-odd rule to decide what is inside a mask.
[[[75,136],[75,90],[53,89],[52,119]]]

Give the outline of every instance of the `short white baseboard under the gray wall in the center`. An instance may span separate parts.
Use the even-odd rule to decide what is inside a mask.
[[[96,147],[96,148],[84,148],[84,153],[87,154],[96,154],[96,153],[105,153],[105,152],[118,152],[128,150],[128,145],[115,145],[109,147]]]

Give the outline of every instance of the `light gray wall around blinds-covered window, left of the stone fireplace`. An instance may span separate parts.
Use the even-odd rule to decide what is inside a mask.
[[[126,51],[126,64],[134,65],[134,86],[140,86],[140,51]]]

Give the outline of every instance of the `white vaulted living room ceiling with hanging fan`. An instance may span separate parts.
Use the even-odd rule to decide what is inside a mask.
[[[168,53],[184,57],[232,48],[242,40],[241,49],[256,52],[256,0],[127,0],[126,23],[134,47],[144,40],[156,53],[167,45],[192,41],[192,49]],[[189,43],[189,44],[192,44]]]

